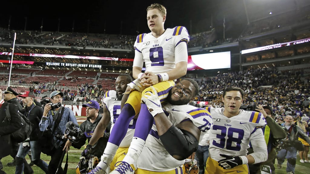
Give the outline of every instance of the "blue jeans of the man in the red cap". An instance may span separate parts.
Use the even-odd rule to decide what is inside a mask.
[[[23,143],[20,143],[20,147],[18,149],[16,157],[19,158],[25,158],[25,156],[28,154],[29,150],[31,149],[31,155],[32,155],[32,161],[35,165],[40,167],[45,173],[48,173],[48,164],[45,163],[41,159],[41,149],[39,145],[39,141],[29,141],[30,147],[29,146],[24,146]],[[16,163],[16,170],[15,174],[23,174],[24,171],[24,163],[17,165]]]

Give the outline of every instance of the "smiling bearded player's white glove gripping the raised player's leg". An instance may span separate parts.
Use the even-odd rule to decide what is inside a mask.
[[[157,95],[156,89],[153,86],[150,86],[153,89],[153,93],[151,91],[146,92],[141,98],[142,102],[146,104],[148,107],[148,111],[153,115],[153,117],[159,113],[164,112],[162,110],[162,104],[160,103],[159,97]],[[150,110],[153,111],[150,111]]]

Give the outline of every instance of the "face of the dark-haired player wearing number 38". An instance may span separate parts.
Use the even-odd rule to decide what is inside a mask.
[[[222,101],[224,102],[225,110],[228,111],[228,113],[237,115],[242,104],[242,95],[239,91],[228,91],[224,98],[222,98]]]

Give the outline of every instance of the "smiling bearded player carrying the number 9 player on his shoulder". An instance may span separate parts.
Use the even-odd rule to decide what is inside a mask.
[[[136,166],[130,167],[128,165],[127,168],[116,167],[114,172],[133,173],[135,172],[133,167],[138,168],[136,174],[172,174],[184,170],[184,168],[181,169],[179,166],[182,166],[185,162],[184,159],[195,152],[198,147],[199,136],[195,136],[197,134],[192,131],[206,132],[212,124],[212,118],[208,111],[188,105],[188,102],[195,98],[198,92],[199,86],[195,80],[184,79],[170,89],[167,102],[163,104],[162,108],[158,106],[156,107],[157,109],[154,109],[154,107],[150,108],[149,104],[147,104],[156,125],[153,124],[151,130],[148,131],[148,138],[140,156],[137,157]],[[151,101],[155,99],[155,93],[151,94],[153,96],[151,97],[152,99],[150,98]],[[143,98],[144,103],[146,103],[147,98]],[[158,96],[158,98],[160,97]],[[156,103],[159,104],[160,102]],[[152,111],[152,109],[155,111]],[[186,113],[189,115],[184,116],[184,114],[187,115]],[[185,121],[186,119],[182,120],[185,117],[190,119],[191,123]],[[186,140],[183,136],[186,137]],[[180,146],[181,144],[183,146]],[[129,149],[133,149],[133,147],[130,146]],[[126,159],[116,163],[115,166],[119,166],[122,163],[127,163]]]

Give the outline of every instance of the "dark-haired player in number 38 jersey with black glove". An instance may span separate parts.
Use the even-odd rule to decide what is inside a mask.
[[[224,108],[206,107],[213,120],[209,132],[206,174],[248,174],[248,163],[267,160],[267,146],[261,129],[266,125],[266,121],[259,112],[239,109],[243,96],[242,89],[228,87],[222,97]],[[247,155],[246,149],[250,141],[254,152]]]

